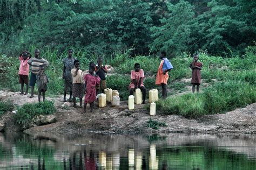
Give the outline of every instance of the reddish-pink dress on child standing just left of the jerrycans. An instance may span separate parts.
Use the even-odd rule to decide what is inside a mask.
[[[86,83],[86,91],[84,97],[84,103],[92,103],[96,101],[96,85],[99,85],[99,76],[93,76],[91,74],[86,74],[84,76],[84,82]]]

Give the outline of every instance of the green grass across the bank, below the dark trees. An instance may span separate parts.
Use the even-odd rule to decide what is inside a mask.
[[[29,50],[33,51],[34,49],[35,47],[31,46]],[[166,114],[196,117],[203,114],[225,112],[253,103],[253,101],[255,102],[253,90],[255,90],[256,82],[256,46],[248,47],[245,51],[245,55],[233,58],[222,58],[220,56],[199,53],[199,62],[203,63],[201,77],[205,82],[210,83],[210,86],[205,88],[201,94],[169,97],[165,101],[159,101],[158,106],[160,105]],[[49,77],[46,95],[63,94],[64,81],[61,78],[63,72],[62,60],[67,55],[66,51],[59,52],[57,49],[49,51],[48,48],[45,48],[42,49],[41,54],[50,63],[46,69],[46,74]],[[97,55],[83,47],[75,48],[73,56],[80,60],[82,70],[86,70],[89,62],[96,61],[98,58]],[[140,67],[144,69],[144,85],[146,89],[158,88],[155,85],[156,72],[160,63],[158,56],[131,57],[128,50],[123,54],[117,53],[103,57],[104,64],[109,63],[112,65],[117,73],[106,77],[107,88],[118,90],[121,100],[127,100],[129,96],[130,72],[136,62],[140,63]],[[186,84],[178,81],[191,77],[189,66],[192,58],[184,54],[176,56],[176,58],[172,58],[170,61],[174,68],[169,74],[169,87],[173,91],[183,91]],[[0,62],[0,87],[18,91],[20,88],[17,75],[19,68],[18,59],[2,54],[0,55]],[[212,79],[217,79],[218,83]],[[37,93],[37,88],[35,90],[35,93]],[[240,98],[243,98],[244,101],[241,101]]]

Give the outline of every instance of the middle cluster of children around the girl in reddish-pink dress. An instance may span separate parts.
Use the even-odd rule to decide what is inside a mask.
[[[66,93],[70,92],[69,101],[72,101],[73,107],[76,105],[76,97],[79,98],[80,108],[82,108],[82,98],[84,98],[84,112],[86,112],[87,103],[90,104],[90,110],[93,110],[94,102],[96,101],[96,94],[104,93],[106,89],[107,68],[103,66],[103,59],[98,58],[97,65],[94,61],[89,63],[89,73],[83,76],[80,69],[80,62],[76,58],[72,58],[72,49],[68,50],[68,57],[63,60],[63,79],[64,79],[64,99],[66,101]],[[96,73],[96,74],[95,74]]]

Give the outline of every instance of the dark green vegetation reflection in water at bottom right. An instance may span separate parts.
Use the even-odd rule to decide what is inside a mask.
[[[166,162],[169,169],[253,169],[256,166],[256,161],[244,154],[214,147],[172,147],[157,153],[160,169]]]

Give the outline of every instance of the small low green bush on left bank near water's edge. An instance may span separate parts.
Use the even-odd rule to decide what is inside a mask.
[[[32,119],[37,115],[51,115],[56,111],[53,102],[45,101],[40,103],[24,104],[18,108],[14,115],[15,122],[21,126],[22,129],[28,129]]]

